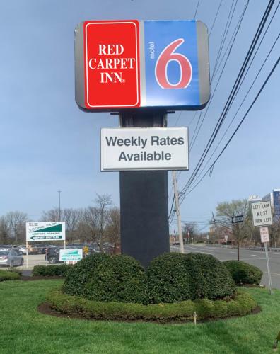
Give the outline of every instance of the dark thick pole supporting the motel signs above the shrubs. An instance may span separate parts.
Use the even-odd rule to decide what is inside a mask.
[[[158,111],[122,113],[121,127],[165,127],[166,114]],[[169,252],[168,171],[119,173],[121,249],[144,267]]]

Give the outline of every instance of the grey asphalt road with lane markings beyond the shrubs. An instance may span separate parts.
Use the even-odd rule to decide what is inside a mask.
[[[185,252],[206,253],[218,258],[220,261],[228,261],[231,259],[237,259],[237,249],[231,249],[230,247],[221,246],[207,246],[190,244],[184,245]],[[180,251],[180,246],[170,246],[170,251]],[[264,251],[253,251],[250,249],[240,249],[240,261],[250,263],[257,266],[262,270],[264,275],[262,276],[261,284],[268,287],[268,275],[267,275],[267,261]],[[280,253],[269,252],[269,264],[270,272],[272,275],[272,287],[280,289]]]

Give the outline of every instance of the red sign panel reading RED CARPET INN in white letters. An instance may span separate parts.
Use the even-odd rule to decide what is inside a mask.
[[[86,108],[139,107],[139,22],[87,21],[83,36]]]

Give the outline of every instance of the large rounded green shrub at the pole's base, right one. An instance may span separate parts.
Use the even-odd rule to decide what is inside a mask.
[[[225,265],[208,254],[165,253],[147,270],[151,303],[231,296],[235,284]]]

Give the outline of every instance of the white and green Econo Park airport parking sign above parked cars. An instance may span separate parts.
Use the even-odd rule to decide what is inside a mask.
[[[64,241],[65,222],[26,222],[26,241]]]

